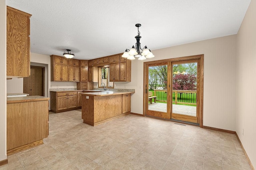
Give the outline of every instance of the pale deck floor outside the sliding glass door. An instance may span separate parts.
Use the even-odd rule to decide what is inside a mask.
[[[166,112],[167,111],[167,104],[166,103],[154,103],[154,102],[152,102],[152,104],[148,104],[148,109],[149,110],[154,110],[154,111]],[[182,115],[196,116],[196,106],[185,106],[185,105],[173,104],[172,105],[172,112],[177,113],[177,114],[182,114]]]

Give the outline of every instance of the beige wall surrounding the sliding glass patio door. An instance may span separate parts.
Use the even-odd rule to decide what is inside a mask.
[[[152,52],[155,55],[152,59],[132,61],[132,82],[125,85],[135,89],[131,101],[133,113],[143,113],[143,62],[204,54],[203,125],[235,131],[236,35]]]

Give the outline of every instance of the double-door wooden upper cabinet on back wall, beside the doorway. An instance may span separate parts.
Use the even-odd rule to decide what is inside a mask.
[[[51,81],[68,81],[68,59],[51,55]]]

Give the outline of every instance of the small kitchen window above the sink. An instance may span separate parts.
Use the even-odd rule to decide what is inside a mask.
[[[99,68],[99,88],[103,88],[103,83],[106,88],[114,88],[114,82],[109,81],[109,66]]]

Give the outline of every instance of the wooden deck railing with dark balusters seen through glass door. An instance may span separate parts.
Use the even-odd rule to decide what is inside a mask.
[[[167,90],[154,90],[156,101],[167,102]],[[196,105],[196,90],[172,90],[173,104]]]

